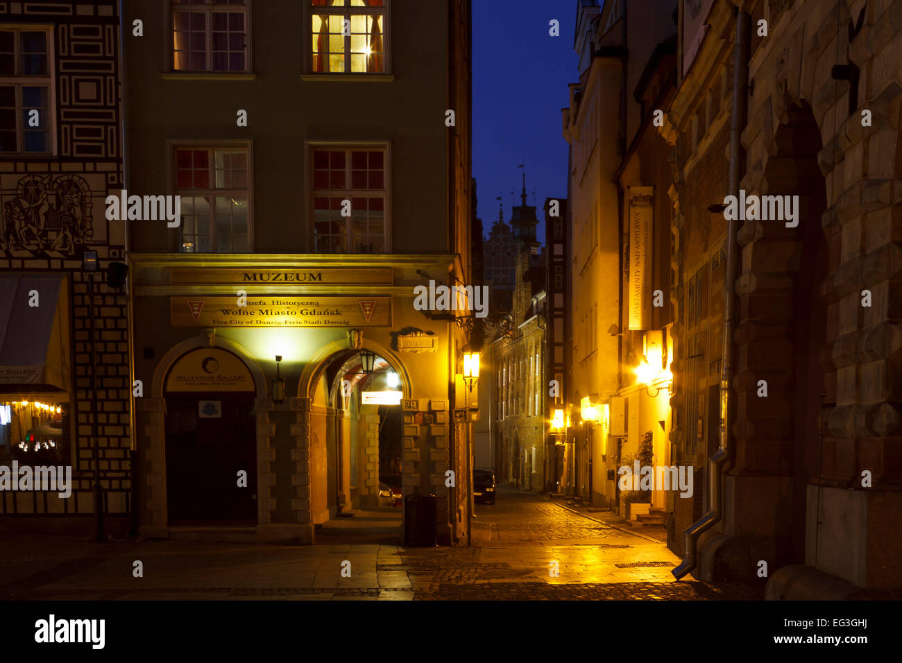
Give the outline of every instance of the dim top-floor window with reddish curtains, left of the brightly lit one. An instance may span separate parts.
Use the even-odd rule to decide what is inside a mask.
[[[172,0],[172,69],[247,71],[248,0]]]

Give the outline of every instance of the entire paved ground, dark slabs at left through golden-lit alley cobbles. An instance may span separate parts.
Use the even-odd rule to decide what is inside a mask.
[[[369,524],[362,520],[362,523]],[[371,533],[372,534],[372,533]],[[187,540],[97,544],[0,539],[0,600],[753,600],[742,585],[675,582],[655,539],[589,520],[540,495],[478,505],[474,543],[291,547]],[[143,563],[143,577],[133,563]],[[341,571],[351,564],[351,575]]]

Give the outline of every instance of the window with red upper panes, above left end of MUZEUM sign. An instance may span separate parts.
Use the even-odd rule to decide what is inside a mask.
[[[247,147],[175,148],[181,196],[179,251],[248,253],[251,228]]]

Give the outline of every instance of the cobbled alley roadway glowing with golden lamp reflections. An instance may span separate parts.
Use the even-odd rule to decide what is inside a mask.
[[[756,600],[740,584],[676,582],[679,558],[645,532],[615,529],[529,493],[476,505],[478,547],[402,548],[417,600]],[[644,536],[643,536],[644,534]],[[557,564],[553,564],[557,563]],[[557,571],[557,575],[553,572]]]

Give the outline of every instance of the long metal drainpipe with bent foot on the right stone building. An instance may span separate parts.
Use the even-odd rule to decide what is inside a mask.
[[[739,182],[744,170],[745,152],[741,135],[749,114],[749,58],[750,16],[736,10],[736,40],[733,44],[733,92],[730,117],[730,195],[739,196]],[[677,580],[686,576],[698,563],[698,538],[715,522],[723,519],[723,471],[732,461],[730,428],[735,416],[735,403],[730,396],[732,382],[732,336],[736,311],[735,284],[739,272],[739,246],[736,235],[739,221],[731,220],[727,226],[726,274],[723,284],[723,349],[721,355],[721,429],[720,447],[708,459],[708,512],[684,532],[685,557],[671,573]]]

